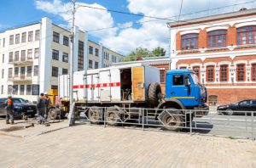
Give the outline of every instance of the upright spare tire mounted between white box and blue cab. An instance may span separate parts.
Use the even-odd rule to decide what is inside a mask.
[[[148,103],[149,104],[158,104],[159,99],[162,95],[160,84],[153,82],[148,87]]]

